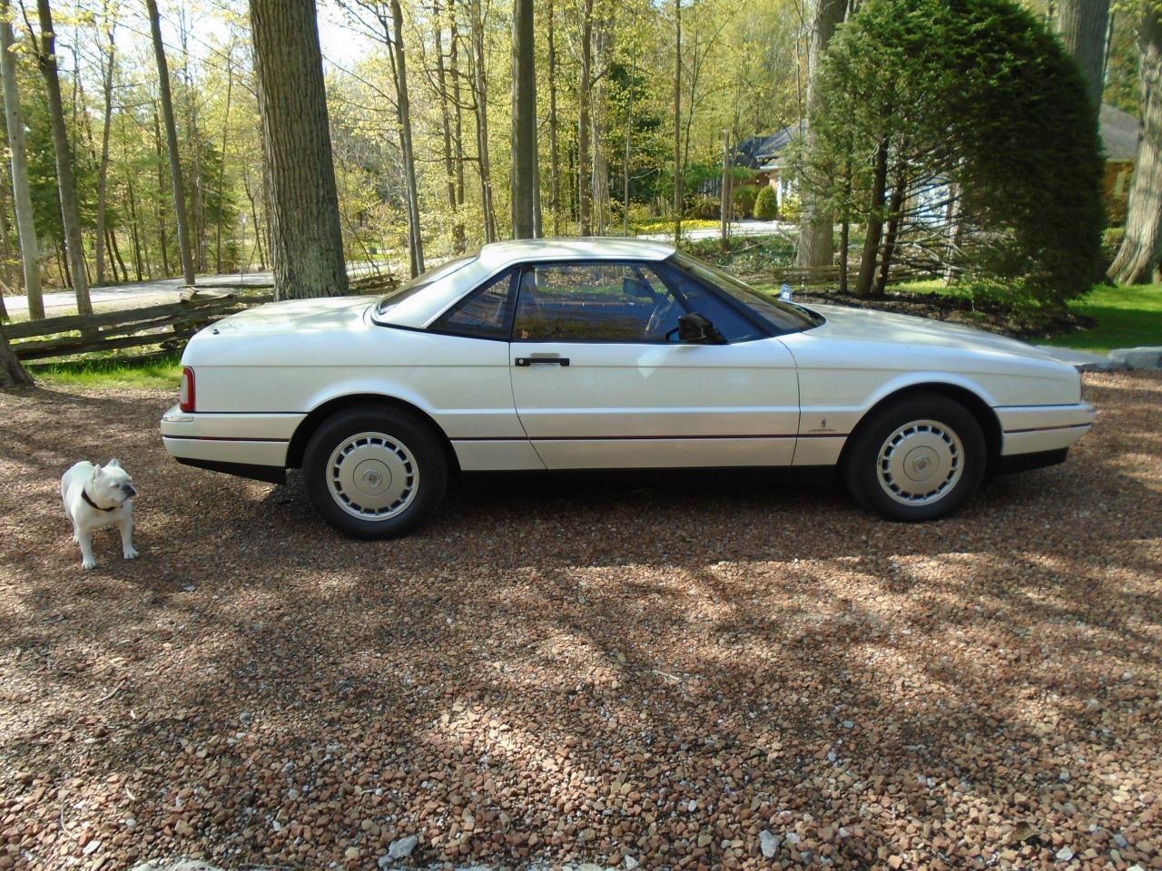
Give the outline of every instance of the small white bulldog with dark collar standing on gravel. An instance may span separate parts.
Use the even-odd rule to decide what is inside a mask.
[[[94,466],[81,460],[60,476],[60,499],[72,520],[73,541],[80,545],[81,568],[96,568],[93,559],[93,532],[116,524],[121,531],[121,553],[127,560],[134,549],[134,480],[120,460]]]

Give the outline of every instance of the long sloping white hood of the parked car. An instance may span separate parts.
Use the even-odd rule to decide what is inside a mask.
[[[1005,336],[911,315],[841,305],[812,305],[827,323],[812,330],[819,338],[883,341],[894,345],[935,345],[963,351],[984,351],[1034,360],[1054,360],[1040,348]]]

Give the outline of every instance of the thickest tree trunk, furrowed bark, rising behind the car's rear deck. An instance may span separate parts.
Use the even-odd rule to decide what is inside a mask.
[[[279,300],[347,293],[314,0],[250,0]]]

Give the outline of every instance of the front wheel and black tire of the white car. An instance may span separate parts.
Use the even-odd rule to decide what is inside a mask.
[[[988,465],[976,418],[934,393],[910,394],[873,411],[852,439],[844,483],[861,505],[889,520],[954,513],[980,488]]]

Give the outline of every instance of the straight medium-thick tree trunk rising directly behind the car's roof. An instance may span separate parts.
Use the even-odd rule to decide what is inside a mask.
[[[537,62],[533,45],[533,0],[515,0],[512,8],[512,238],[530,239],[537,216]]]

